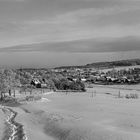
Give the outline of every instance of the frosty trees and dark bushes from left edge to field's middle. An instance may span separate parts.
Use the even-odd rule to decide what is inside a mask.
[[[14,70],[14,69],[0,69],[0,100],[3,100],[5,94],[15,97],[17,88],[20,91],[26,92],[37,88],[31,84],[34,77],[37,77],[40,83],[46,84],[46,88],[52,90],[77,90],[85,91],[85,85],[77,79],[73,81],[68,79],[63,74],[56,74],[48,70]]]

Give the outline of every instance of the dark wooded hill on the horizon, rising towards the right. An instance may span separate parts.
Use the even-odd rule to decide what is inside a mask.
[[[62,66],[56,69],[69,69],[69,68],[113,68],[113,67],[124,67],[124,66],[135,66],[140,65],[140,59],[129,59],[129,60],[119,60],[110,62],[96,62],[91,64],[86,64],[82,66]]]

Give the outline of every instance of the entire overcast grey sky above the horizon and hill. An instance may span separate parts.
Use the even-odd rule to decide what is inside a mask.
[[[0,0],[0,65],[140,58],[140,0]]]

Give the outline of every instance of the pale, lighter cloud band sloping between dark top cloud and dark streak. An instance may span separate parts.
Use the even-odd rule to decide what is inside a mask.
[[[64,42],[95,38],[140,36],[139,6],[80,9],[52,17],[9,21],[3,23],[3,42],[17,43]],[[131,15],[131,16],[130,16]],[[0,33],[4,38],[3,33]],[[0,41],[1,42],[1,41]],[[1,44],[3,44],[1,42]]]

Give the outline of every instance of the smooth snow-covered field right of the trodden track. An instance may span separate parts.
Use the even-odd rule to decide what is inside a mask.
[[[13,110],[29,140],[139,140],[140,99],[117,98],[119,89],[94,86],[85,93],[45,94],[43,102]]]

